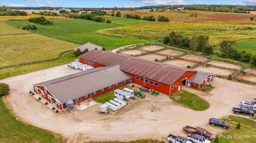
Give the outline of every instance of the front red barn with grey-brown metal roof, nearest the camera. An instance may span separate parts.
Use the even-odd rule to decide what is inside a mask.
[[[119,65],[114,65],[78,72],[33,86],[34,92],[64,110],[68,100],[77,104],[120,88],[131,83],[131,80],[131,76],[120,71]]]

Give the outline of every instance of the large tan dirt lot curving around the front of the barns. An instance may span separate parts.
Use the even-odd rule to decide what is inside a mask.
[[[235,115],[231,109],[240,107],[241,100],[252,100],[256,91],[256,86],[215,78],[211,82],[214,89],[207,93],[182,87],[208,101],[210,108],[207,110],[193,111],[173,102],[164,94],[152,96],[144,92],[145,98],[136,97],[134,102],[107,115],[98,114],[100,104],[78,111],[76,115],[73,112],[55,113],[29,94],[29,91],[33,91],[32,84],[75,72],[80,71],[61,65],[1,80],[10,85],[10,94],[6,99],[12,107],[11,112],[26,123],[60,133],[69,139],[68,143],[138,139],[167,142],[166,136],[170,133],[185,137],[186,133],[182,131],[185,125],[204,127],[213,134],[226,131],[208,125],[209,118]]]

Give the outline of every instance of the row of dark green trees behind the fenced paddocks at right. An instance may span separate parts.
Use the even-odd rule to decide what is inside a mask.
[[[226,59],[251,63],[253,67],[256,67],[256,55],[252,55],[252,53],[248,53],[246,50],[236,49],[236,41],[223,40],[220,43],[220,52],[215,53],[213,51],[213,45],[209,44],[209,36],[207,35],[193,36],[190,39],[172,31],[168,36],[164,37],[163,42],[164,44],[182,49],[200,51],[206,55],[216,54]]]

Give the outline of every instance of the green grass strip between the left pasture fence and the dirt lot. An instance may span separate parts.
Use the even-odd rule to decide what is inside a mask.
[[[6,69],[0,69],[0,79],[8,78],[10,77],[10,73],[13,73],[13,75],[27,73],[27,72],[33,72],[41,69],[46,69],[58,65],[63,65],[66,63],[70,63],[74,61],[74,59],[78,59],[74,52],[67,52],[61,55],[61,58],[55,61],[49,61],[44,63],[37,63],[32,65],[25,65],[25,66],[18,66],[18,67],[11,67]]]

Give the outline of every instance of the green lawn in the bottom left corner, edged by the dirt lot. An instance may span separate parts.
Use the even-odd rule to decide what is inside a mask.
[[[59,134],[16,120],[16,117],[4,105],[2,97],[0,99],[0,113],[0,143],[63,142]]]

